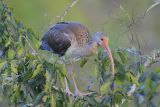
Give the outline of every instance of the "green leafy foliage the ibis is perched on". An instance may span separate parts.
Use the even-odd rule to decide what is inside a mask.
[[[0,1],[0,100],[15,106],[45,107],[109,107],[158,106],[160,68],[145,68],[138,55],[116,49],[116,75],[110,75],[108,56],[100,51],[95,58],[99,90],[90,96],[74,99],[64,91],[65,66],[56,63],[58,57],[39,50],[40,40],[31,29],[15,20],[11,10]],[[50,56],[50,57],[48,57]],[[81,67],[87,62],[84,59]],[[4,98],[4,99],[3,99]]]

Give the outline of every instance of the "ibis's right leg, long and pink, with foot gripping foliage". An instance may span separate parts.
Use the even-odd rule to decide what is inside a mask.
[[[70,75],[71,79],[73,80],[74,97],[77,97],[77,96],[83,97],[84,95],[90,95],[90,94],[92,94],[92,93],[81,93],[81,92],[79,92],[77,84],[76,84],[76,81],[75,81],[75,79],[73,77],[73,72],[72,71],[73,71],[72,65],[69,65],[68,72],[69,72],[69,75]]]

